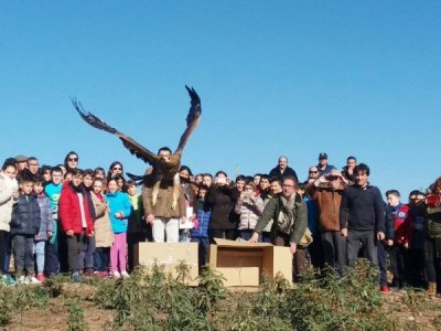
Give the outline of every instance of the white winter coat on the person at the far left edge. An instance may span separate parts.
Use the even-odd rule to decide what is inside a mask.
[[[12,205],[17,202],[12,197],[12,193],[18,188],[15,179],[0,173],[0,231],[9,232],[11,229]]]

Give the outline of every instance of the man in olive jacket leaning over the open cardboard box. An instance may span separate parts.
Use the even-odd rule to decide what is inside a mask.
[[[308,227],[306,204],[295,193],[297,181],[293,177],[286,177],[282,181],[281,195],[270,199],[265,206],[263,214],[257,222],[255,232],[249,243],[257,243],[259,234],[263,231],[270,220],[275,220],[272,226],[273,244],[277,246],[289,246],[292,254],[297,254],[301,269],[306,261],[304,249],[298,249],[298,244]]]

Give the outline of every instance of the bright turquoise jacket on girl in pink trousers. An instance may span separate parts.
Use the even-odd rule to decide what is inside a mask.
[[[111,229],[115,234],[127,232],[128,220],[131,214],[131,202],[129,196],[123,192],[107,193],[106,200],[109,205],[109,216]],[[122,217],[117,218],[116,213],[122,213]]]

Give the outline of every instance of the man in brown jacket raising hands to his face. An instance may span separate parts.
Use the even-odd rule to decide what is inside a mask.
[[[340,234],[340,205],[346,185],[337,170],[332,170],[306,186],[320,210],[320,237],[324,263],[336,267],[340,275],[346,265],[346,238]]]

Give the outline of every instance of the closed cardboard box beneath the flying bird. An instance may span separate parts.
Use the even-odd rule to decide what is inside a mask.
[[[197,285],[198,276],[197,243],[139,243],[135,245],[135,266],[141,265],[148,268],[154,264],[164,266],[164,271],[176,276],[176,266],[184,260],[190,267],[190,277],[193,281],[189,285]]]

